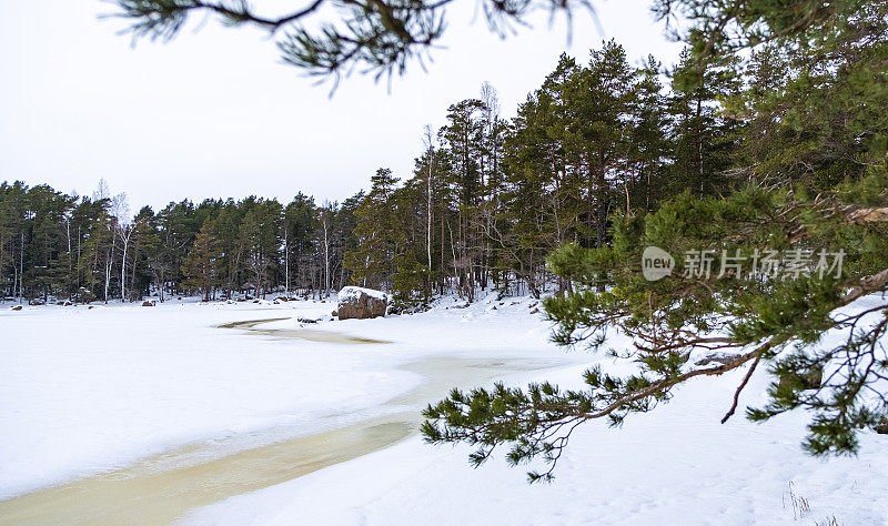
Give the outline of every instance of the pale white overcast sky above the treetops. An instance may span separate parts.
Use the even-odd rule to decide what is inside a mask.
[[[297,1],[256,0],[262,11]],[[9,2],[0,17],[0,181],[23,180],[91,194],[104,178],[131,208],[189,198],[255,194],[289,201],[297,191],[342,200],[380,166],[410,176],[425,124],[490,82],[512,117],[563,51],[588,58],[603,38],[633,63],[653,53],[672,64],[679,45],[649,14],[650,0],[596,2],[592,18],[545,18],[501,40],[474,20],[474,0],[448,11],[443,49],[427,71],[374,83],[352,75],[330,97],[280,62],[274,42],[252,29],[192,23],[170,43],[119,34],[100,0]],[[198,28],[198,26],[201,26]]]

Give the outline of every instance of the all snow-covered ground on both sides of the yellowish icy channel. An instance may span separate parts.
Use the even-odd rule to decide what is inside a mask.
[[[417,315],[305,327],[393,342],[372,345],[218,327],[282,317],[261,326],[292,330],[295,318],[329,314],[334,303],[0,306],[0,499],[201,441],[250,447],[379,416],[433,383],[405,365],[436,357],[493,360],[515,385],[542,377],[576,385],[589,363],[609,360],[547,343],[534,303],[491,296],[456,308],[448,300]],[[522,360],[534,366],[509,366]],[[764,425],[737,415],[719,425],[743,374],[694,381],[619,429],[581,426],[552,484],[527,485],[524,469],[502,458],[472,469],[467,448],[413,435],[183,520],[814,524],[835,515],[840,524],[888,523],[888,437],[866,434],[858,457],[824,461],[799,447],[806,415]],[[443,382],[467,387],[478,378]],[[741,406],[759,403],[766,383],[755,375]],[[425,394],[430,402],[435,393]],[[804,517],[790,483],[796,500],[810,505]]]

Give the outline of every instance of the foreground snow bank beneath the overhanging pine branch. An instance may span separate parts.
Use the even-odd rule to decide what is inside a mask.
[[[848,311],[871,303],[864,299]],[[831,334],[825,344],[840,337]],[[610,358],[596,361],[616,365]],[[523,380],[577,386],[584,368]],[[763,370],[753,376],[740,407],[765,402],[769,378]],[[183,522],[779,525],[826,524],[836,517],[839,524],[888,523],[888,437],[864,433],[859,456],[821,459],[799,446],[806,414],[765,424],[739,415],[720,425],[744,374],[694,380],[673,402],[630,416],[620,428],[604,423],[578,427],[552,484],[528,485],[526,466],[508,467],[502,458],[472,469],[468,447],[433,447],[413,437],[196,509]],[[793,498],[799,497],[809,510],[794,509]]]

